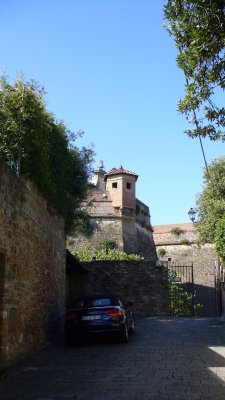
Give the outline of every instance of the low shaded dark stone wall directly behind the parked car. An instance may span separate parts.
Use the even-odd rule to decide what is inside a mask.
[[[67,276],[67,307],[83,294],[111,292],[134,302],[135,315],[168,315],[167,268],[150,262],[82,263],[87,274]]]

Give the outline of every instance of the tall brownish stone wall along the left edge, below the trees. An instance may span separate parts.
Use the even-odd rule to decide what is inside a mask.
[[[31,182],[1,166],[2,359],[23,356],[59,331],[64,307],[64,222],[50,214]]]

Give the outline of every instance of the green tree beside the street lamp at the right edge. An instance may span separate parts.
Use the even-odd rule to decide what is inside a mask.
[[[204,172],[204,188],[197,199],[199,221],[196,224],[202,243],[215,242],[216,224],[225,213],[225,157],[212,161]]]

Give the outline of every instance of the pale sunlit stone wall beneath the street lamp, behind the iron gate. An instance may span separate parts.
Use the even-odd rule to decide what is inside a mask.
[[[183,233],[171,233],[179,227]],[[195,302],[203,305],[201,316],[212,317],[220,313],[219,271],[213,245],[199,247],[193,224],[163,225],[154,227],[157,252],[164,249],[162,261],[170,259],[177,265],[193,263]],[[187,244],[184,244],[186,241]]]

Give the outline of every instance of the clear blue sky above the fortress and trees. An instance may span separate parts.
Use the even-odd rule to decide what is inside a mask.
[[[94,144],[96,164],[139,175],[153,225],[189,222],[202,191],[198,139],[183,133],[176,49],[162,28],[163,0],[1,0],[0,68],[47,91],[47,107]],[[203,142],[207,162],[222,142]]]

